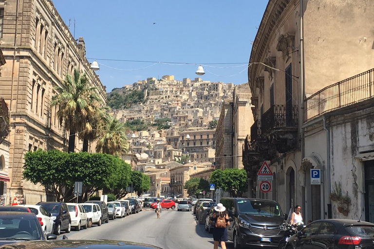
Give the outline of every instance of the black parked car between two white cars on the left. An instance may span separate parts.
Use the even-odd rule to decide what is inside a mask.
[[[39,202],[37,205],[42,206],[48,213],[52,213],[52,220],[55,222],[53,231],[60,235],[61,231],[69,233],[72,229],[72,220],[69,214],[68,206],[65,202]]]

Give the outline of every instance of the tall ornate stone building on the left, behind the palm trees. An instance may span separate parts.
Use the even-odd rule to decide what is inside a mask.
[[[56,117],[58,109],[50,107],[54,88],[62,87],[65,74],[78,69],[87,73],[104,101],[106,90],[90,69],[83,38],[76,42],[51,0],[0,1],[0,9],[4,13],[1,47],[7,61],[1,69],[0,88],[9,105],[11,143],[7,195],[23,196],[33,204],[51,198],[43,187],[22,179],[25,152],[66,150],[68,145],[67,132]],[[81,143],[75,140],[76,150]]]

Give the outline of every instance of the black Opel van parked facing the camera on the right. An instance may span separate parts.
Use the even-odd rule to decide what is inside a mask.
[[[287,219],[278,202],[224,197],[221,203],[228,211],[227,237],[234,242],[235,249],[241,245],[278,248],[283,236],[282,224]]]

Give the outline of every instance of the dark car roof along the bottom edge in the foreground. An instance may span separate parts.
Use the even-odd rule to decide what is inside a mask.
[[[118,241],[118,240],[34,240],[27,242],[13,243],[14,249],[62,249],[72,248],[75,249],[161,249],[147,244]],[[0,249],[5,248],[0,247]]]

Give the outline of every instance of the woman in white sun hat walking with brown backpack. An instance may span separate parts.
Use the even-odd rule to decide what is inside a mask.
[[[215,226],[213,229],[213,240],[214,240],[214,249],[218,249],[218,244],[221,244],[222,249],[226,249],[226,241],[227,241],[227,228],[226,226],[230,225],[230,221],[228,219],[228,214],[226,208],[222,203],[218,203],[216,207],[214,207],[214,213],[212,215],[211,220],[215,222]]]

